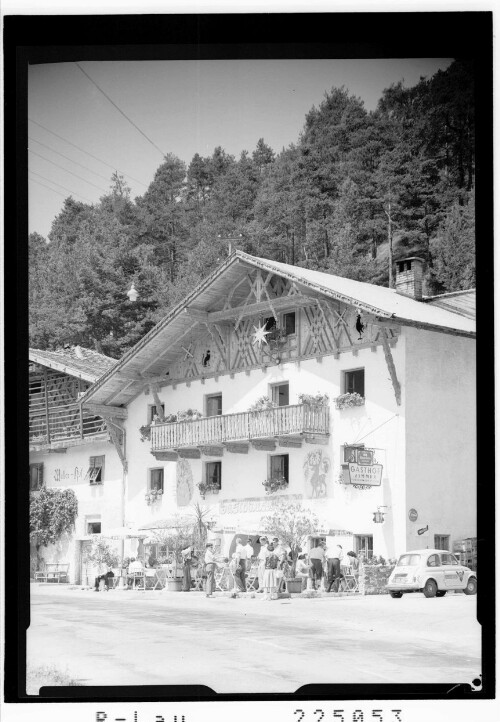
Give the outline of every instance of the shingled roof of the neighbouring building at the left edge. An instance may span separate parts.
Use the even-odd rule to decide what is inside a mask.
[[[29,359],[40,366],[62,371],[68,376],[75,376],[90,383],[97,381],[117,363],[116,359],[82,346],[71,346],[57,351],[30,348]]]

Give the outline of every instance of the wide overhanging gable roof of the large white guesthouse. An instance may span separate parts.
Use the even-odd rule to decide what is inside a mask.
[[[233,306],[244,303],[248,288],[246,292],[241,290],[241,282],[248,277],[249,270],[256,268],[296,283],[312,302],[327,297],[403,326],[475,336],[474,321],[449,308],[416,301],[394,289],[235,251],[88,389],[83,403],[127,404],[144,388],[148,378],[168,381],[166,369],[179,358],[182,344],[186,343],[182,339],[195,334],[197,327],[204,330],[200,317],[206,312],[221,311],[228,296]]]

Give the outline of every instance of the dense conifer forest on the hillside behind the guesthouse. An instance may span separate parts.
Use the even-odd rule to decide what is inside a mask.
[[[30,345],[120,357],[227,257],[228,236],[233,250],[384,285],[418,255],[424,293],[468,288],[474,177],[470,62],[392,85],[372,112],[331,88],[277,154],[263,138],[239,158],[170,153],[134,200],[117,173],[96,204],[66,198],[48,239],[29,238]]]

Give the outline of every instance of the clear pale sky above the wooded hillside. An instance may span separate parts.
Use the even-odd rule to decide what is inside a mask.
[[[114,170],[125,176],[135,198],[146,191],[166,153],[186,165],[195,153],[209,156],[217,146],[239,157],[243,150],[251,153],[259,138],[279,152],[297,142],[306,114],[332,87],[345,86],[367,110],[374,110],[392,83],[402,80],[411,87],[451,62],[182,60],[31,66],[29,230],[47,237],[69,195],[96,203],[109,190]]]

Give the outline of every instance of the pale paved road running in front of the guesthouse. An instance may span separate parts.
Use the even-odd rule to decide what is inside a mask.
[[[32,585],[28,661],[81,684],[205,684],[290,693],[310,683],[470,683],[476,598],[262,601]]]

